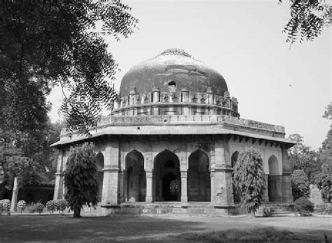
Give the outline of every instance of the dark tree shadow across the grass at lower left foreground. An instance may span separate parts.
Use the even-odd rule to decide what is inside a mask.
[[[99,242],[117,238],[202,230],[202,223],[158,219],[148,216],[101,216],[74,219],[72,216],[1,216],[0,242],[77,241]]]

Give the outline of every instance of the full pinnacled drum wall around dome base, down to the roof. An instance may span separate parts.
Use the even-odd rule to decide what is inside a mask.
[[[148,94],[130,91],[129,96],[120,97],[113,103],[111,115],[228,115],[240,117],[237,98],[228,91],[223,96],[206,92],[191,92],[189,89],[175,91],[170,88],[162,92],[155,87]]]

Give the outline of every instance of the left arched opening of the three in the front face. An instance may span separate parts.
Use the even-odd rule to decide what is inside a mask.
[[[144,156],[133,150],[125,157],[127,202],[144,202],[146,197],[146,175]]]

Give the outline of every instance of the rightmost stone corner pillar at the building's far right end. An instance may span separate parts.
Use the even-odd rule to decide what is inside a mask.
[[[291,165],[288,161],[286,147],[282,146],[282,201],[293,202],[291,191]]]

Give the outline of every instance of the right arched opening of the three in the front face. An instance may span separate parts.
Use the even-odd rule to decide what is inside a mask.
[[[187,190],[188,201],[211,201],[209,157],[200,149],[189,156]]]

